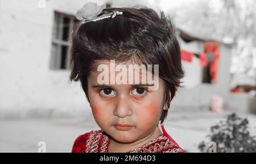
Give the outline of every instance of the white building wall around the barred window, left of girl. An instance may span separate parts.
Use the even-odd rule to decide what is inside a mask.
[[[74,114],[89,109],[68,70],[50,70],[54,11],[75,15],[86,1],[3,0],[0,8],[0,115]],[[99,4],[104,2],[98,1]],[[47,86],[47,87],[46,87]],[[14,112],[13,112],[14,111]]]

